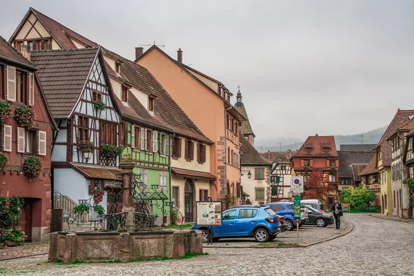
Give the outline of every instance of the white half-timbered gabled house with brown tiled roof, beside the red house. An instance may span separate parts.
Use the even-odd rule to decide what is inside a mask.
[[[77,203],[112,184],[120,172],[119,157],[106,152],[119,146],[120,112],[101,48],[34,51],[32,61],[58,125],[52,188],[57,198]],[[107,208],[106,197],[101,205]]]

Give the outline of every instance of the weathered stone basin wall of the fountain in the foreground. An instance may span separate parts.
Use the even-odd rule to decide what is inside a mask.
[[[201,231],[158,232],[57,232],[50,234],[49,262],[63,259],[130,262],[136,259],[181,258],[186,253],[201,254]]]

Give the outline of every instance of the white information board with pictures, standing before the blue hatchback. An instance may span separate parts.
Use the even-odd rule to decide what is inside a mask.
[[[204,226],[221,226],[221,201],[197,201],[196,223]]]

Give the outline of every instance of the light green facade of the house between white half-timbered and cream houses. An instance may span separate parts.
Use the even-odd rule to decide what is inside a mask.
[[[135,126],[139,126],[138,124],[134,124]],[[157,130],[157,128],[147,128],[142,126],[142,128],[150,129],[153,131],[158,132],[158,150],[157,152],[146,152],[145,150],[137,150],[131,147],[131,127],[132,124],[129,121],[125,121],[125,128],[126,128],[126,145],[124,147],[123,154],[129,154],[132,157],[132,160],[135,161],[135,168],[133,172],[137,175],[141,175],[141,172],[146,171],[146,182],[148,188],[152,188],[152,185],[158,185],[157,190],[161,191],[160,186],[160,172],[164,172],[166,177],[165,179],[165,187],[164,194],[168,197],[165,201],[170,201],[170,156],[169,156],[169,141],[170,135],[168,132],[164,132],[161,130]],[[141,128],[141,126],[139,126]],[[161,134],[166,135],[166,154],[161,155]],[[159,206],[159,208],[157,208]],[[154,215],[159,215],[162,217],[162,201],[159,200],[157,204],[155,201],[152,201],[152,213]],[[169,214],[169,207],[164,207]]]

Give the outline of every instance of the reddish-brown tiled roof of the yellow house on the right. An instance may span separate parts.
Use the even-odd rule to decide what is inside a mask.
[[[409,117],[414,115],[414,110],[397,110],[393,120],[386,128],[384,135],[375,148],[381,147],[382,166],[391,166],[391,145],[386,139],[390,137],[398,128],[404,126],[410,121]]]

